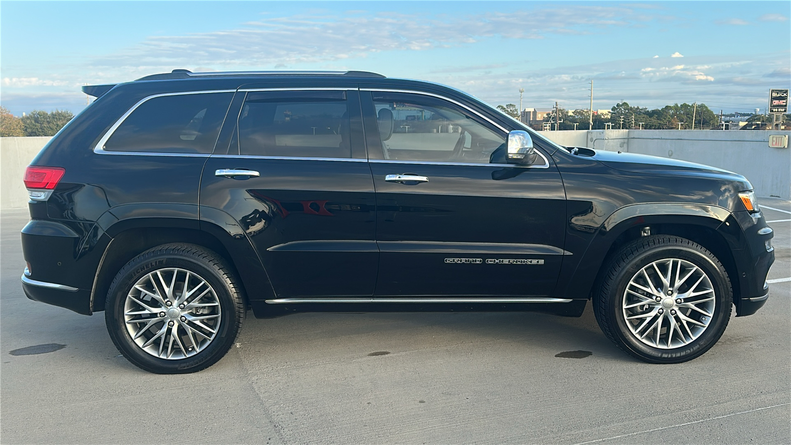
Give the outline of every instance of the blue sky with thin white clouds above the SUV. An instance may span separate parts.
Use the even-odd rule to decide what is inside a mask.
[[[493,105],[766,107],[791,2],[0,2],[0,103],[79,112],[84,84],[176,68],[369,70]]]

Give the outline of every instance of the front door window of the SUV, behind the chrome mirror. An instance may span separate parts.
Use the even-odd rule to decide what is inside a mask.
[[[421,94],[376,92],[373,101],[385,159],[505,162],[505,134],[479,123],[448,101]]]

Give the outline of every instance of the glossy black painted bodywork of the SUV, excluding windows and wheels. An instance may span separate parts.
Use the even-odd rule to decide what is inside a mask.
[[[541,310],[579,315],[607,256],[637,238],[676,234],[725,264],[737,314],[766,295],[774,252],[763,215],[749,214],[742,176],[634,154],[570,154],[533,134],[547,168],[385,160],[369,89],[429,93],[464,105],[498,132],[528,130],[454,89],[387,78],[218,76],[115,86],[63,128],[32,165],[66,169],[51,198],[29,204],[22,230],[28,298],[80,314],[104,310],[115,273],[166,242],[225,256],[259,317],[294,310]],[[176,77],[176,78],[174,78]],[[244,157],[229,150],[244,101],[239,89],[341,89],[349,105],[351,158]],[[116,120],[153,94],[236,91],[214,154],[100,154]],[[590,153],[589,153],[590,152]],[[592,150],[581,152],[592,154]],[[217,177],[250,169],[260,177]],[[429,177],[422,184],[388,174]],[[448,263],[446,258],[480,259]],[[503,264],[486,260],[530,260]],[[569,299],[528,304],[267,304],[293,297],[504,297]]]

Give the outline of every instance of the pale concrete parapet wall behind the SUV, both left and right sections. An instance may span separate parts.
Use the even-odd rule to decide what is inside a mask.
[[[540,131],[564,146],[650,154],[713,165],[747,177],[759,196],[791,200],[791,149],[770,148],[769,135],[791,131],[577,130]],[[0,138],[0,209],[27,207],[25,167],[49,137]]]

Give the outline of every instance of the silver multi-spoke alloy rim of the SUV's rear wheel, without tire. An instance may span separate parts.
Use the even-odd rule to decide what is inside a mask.
[[[220,300],[195,272],[162,268],[134,283],[123,306],[127,333],[160,359],[194,356],[217,336]]]

